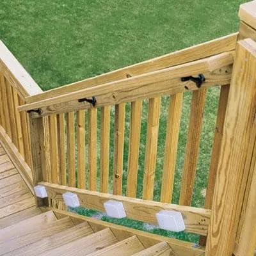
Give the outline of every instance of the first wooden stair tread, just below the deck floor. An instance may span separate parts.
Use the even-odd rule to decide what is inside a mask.
[[[38,227],[43,227],[46,223],[56,221],[57,218],[52,211],[47,211],[32,218],[20,221],[11,226],[0,229],[0,243],[8,241],[13,237],[28,234]]]

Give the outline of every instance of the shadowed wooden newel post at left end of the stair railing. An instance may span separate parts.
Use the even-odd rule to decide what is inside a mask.
[[[48,119],[47,117],[33,118],[33,113],[29,113],[29,131],[31,138],[31,154],[32,154],[32,175],[33,186],[40,181],[51,182],[51,173],[47,172],[47,162],[49,162],[49,138]],[[46,200],[36,199],[37,206],[47,204]]]

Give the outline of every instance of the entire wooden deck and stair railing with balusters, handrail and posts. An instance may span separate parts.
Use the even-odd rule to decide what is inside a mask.
[[[45,186],[52,207],[62,207],[62,194],[72,191],[85,207],[104,211],[106,200],[119,200],[128,218],[149,223],[157,223],[160,209],[180,211],[186,231],[202,236],[207,255],[249,255],[243,253],[256,247],[255,225],[250,225],[255,218],[256,45],[241,39],[256,38],[250,4],[254,3],[241,6],[239,35],[47,92],[38,88],[1,43],[1,142],[13,161],[19,160],[28,182],[33,175],[34,185]],[[196,77],[202,78],[199,74],[205,77],[202,84],[195,83]],[[205,100],[216,85],[220,97],[211,160],[205,167],[209,174],[204,180],[204,207],[191,207],[202,128],[207,122]],[[175,202],[180,161],[182,99],[188,94],[191,106],[179,204],[170,204]],[[168,102],[166,114],[161,102]],[[165,134],[161,142],[159,131]],[[138,172],[143,172],[143,180]],[[161,186],[158,197],[154,197],[156,186]],[[252,241],[246,243],[249,232]],[[188,250],[193,253],[193,248]]]

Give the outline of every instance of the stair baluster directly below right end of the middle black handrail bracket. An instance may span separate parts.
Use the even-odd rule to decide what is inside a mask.
[[[97,109],[88,110],[88,167],[89,189],[96,190],[97,181]]]

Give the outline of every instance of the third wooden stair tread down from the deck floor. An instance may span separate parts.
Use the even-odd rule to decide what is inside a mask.
[[[109,228],[105,228],[97,233],[94,233],[90,236],[83,237],[81,239],[77,239],[71,243],[64,244],[54,250],[49,250],[40,255],[44,256],[84,256],[89,253],[95,252],[96,250],[100,250],[105,248],[111,244],[117,242],[116,237],[113,235]]]

